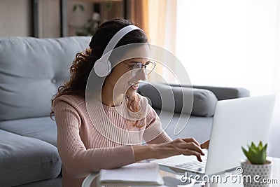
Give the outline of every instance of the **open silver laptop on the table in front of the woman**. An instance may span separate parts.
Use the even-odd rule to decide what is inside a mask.
[[[241,146],[253,141],[267,143],[276,96],[262,95],[218,101],[214,113],[209,148],[202,162],[194,155],[176,155],[153,160],[159,165],[197,174],[218,174],[234,169],[245,159]]]

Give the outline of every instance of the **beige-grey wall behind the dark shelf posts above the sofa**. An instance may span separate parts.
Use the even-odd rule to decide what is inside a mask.
[[[68,36],[76,36],[75,27],[83,26],[92,18],[93,1],[68,0],[67,26]],[[85,11],[78,8],[73,12],[74,4],[83,4]],[[102,21],[122,17],[122,1],[113,2],[110,10],[102,3]],[[30,0],[0,0],[0,37],[31,36],[32,10]],[[38,0],[38,37],[56,38],[60,36],[60,1]]]

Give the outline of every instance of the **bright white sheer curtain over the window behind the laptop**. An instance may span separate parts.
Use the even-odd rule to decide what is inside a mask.
[[[193,85],[277,95],[269,155],[280,157],[280,5],[277,0],[177,0],[176,56]]]

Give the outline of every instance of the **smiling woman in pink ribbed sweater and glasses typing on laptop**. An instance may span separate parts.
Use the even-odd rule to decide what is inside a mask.
[[[102,168],[111,169],[148,158],[179,154],[196,155],[201,160],[200,155],[204,155],[202,148],[207,144],[200,145],[193,138],[172,141],[162,130],[159,117],[147,99],[137,93],[139,81],[146,80],[146,74],[153,70],[155,63],[145,57],[134,57],[115,63],[104,77],[97,75],[98,68],[94,68],[94,64],[99,63],[113,36],[129,25],[132,23],[122,19],[100,25],[92,36],[90,49],[76,55],[70,80],[52,97],[63,186],[80,186],[87,174]],[[131,47],[125,54],[138,51],[147,55],[145,44],[148,41],[141,29],[125,34],[115,48],[132,43],[144,45]],[[93,75],[93,81],[88,80],[90,75]],[[97,85],[92,87],[95,94],[87,95],[86,88],[92,85]],[[87,105],[91,99],[97,103],[92,104],[93,109],[89,110]],[[132,115],[127,117],[120,111]],[[139,112],[141,115],[132,117]],[[145,146],[141,145],[143,139],[147,143]]]

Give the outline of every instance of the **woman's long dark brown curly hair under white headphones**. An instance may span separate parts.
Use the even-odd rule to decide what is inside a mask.
[[[59,86],[57,93],[52,96],[51,106],[53,107],[54,101],[57,97],[61,95],[79,95],[85,98],[85,89],[87,85],[87,79],[90,76],[90,72],[94,67],[94,62],[96,62],[100,57],[111,40],[111,38],[123,27],[128,25],[133,25],[129,20],[115,19],[108,22],[104,22],[100,25],[97,31],[92,36],[90,41],[90,48],[87,48],[85,52],[80,52],[76,54],[75,60],[70,67],[70,79],[64,82],[64,85]],[[115,48],[120,46],[125,46],[130,43],[147,43],[148,39],[146,34],[141,30],[133,30],[126,34],[117,43]],[[139,111],[139,98],[129,97],[127,102],[127,107],[130,111]],[[51,109],[50,117],[54,111]],[[137,127],[139,125],[139,120],[134,124]]]

